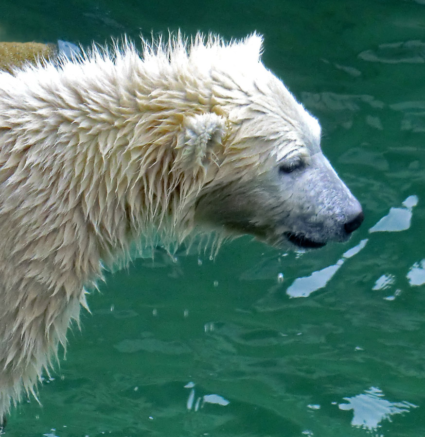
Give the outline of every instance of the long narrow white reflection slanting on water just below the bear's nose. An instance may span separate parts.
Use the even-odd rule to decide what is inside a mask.
[[[314,271],[309,276],[297,278],[286,290],[286,294],[290,297],[308,297],[313,291],[319,290],[335,275],[338,269],[344,264],[345,260],[351,258],[356,253],[360,252],[368,242],[368,239],[361,240],[359,244],[348,250],[342,255],[336,264],[325,267],[324,269]]]

